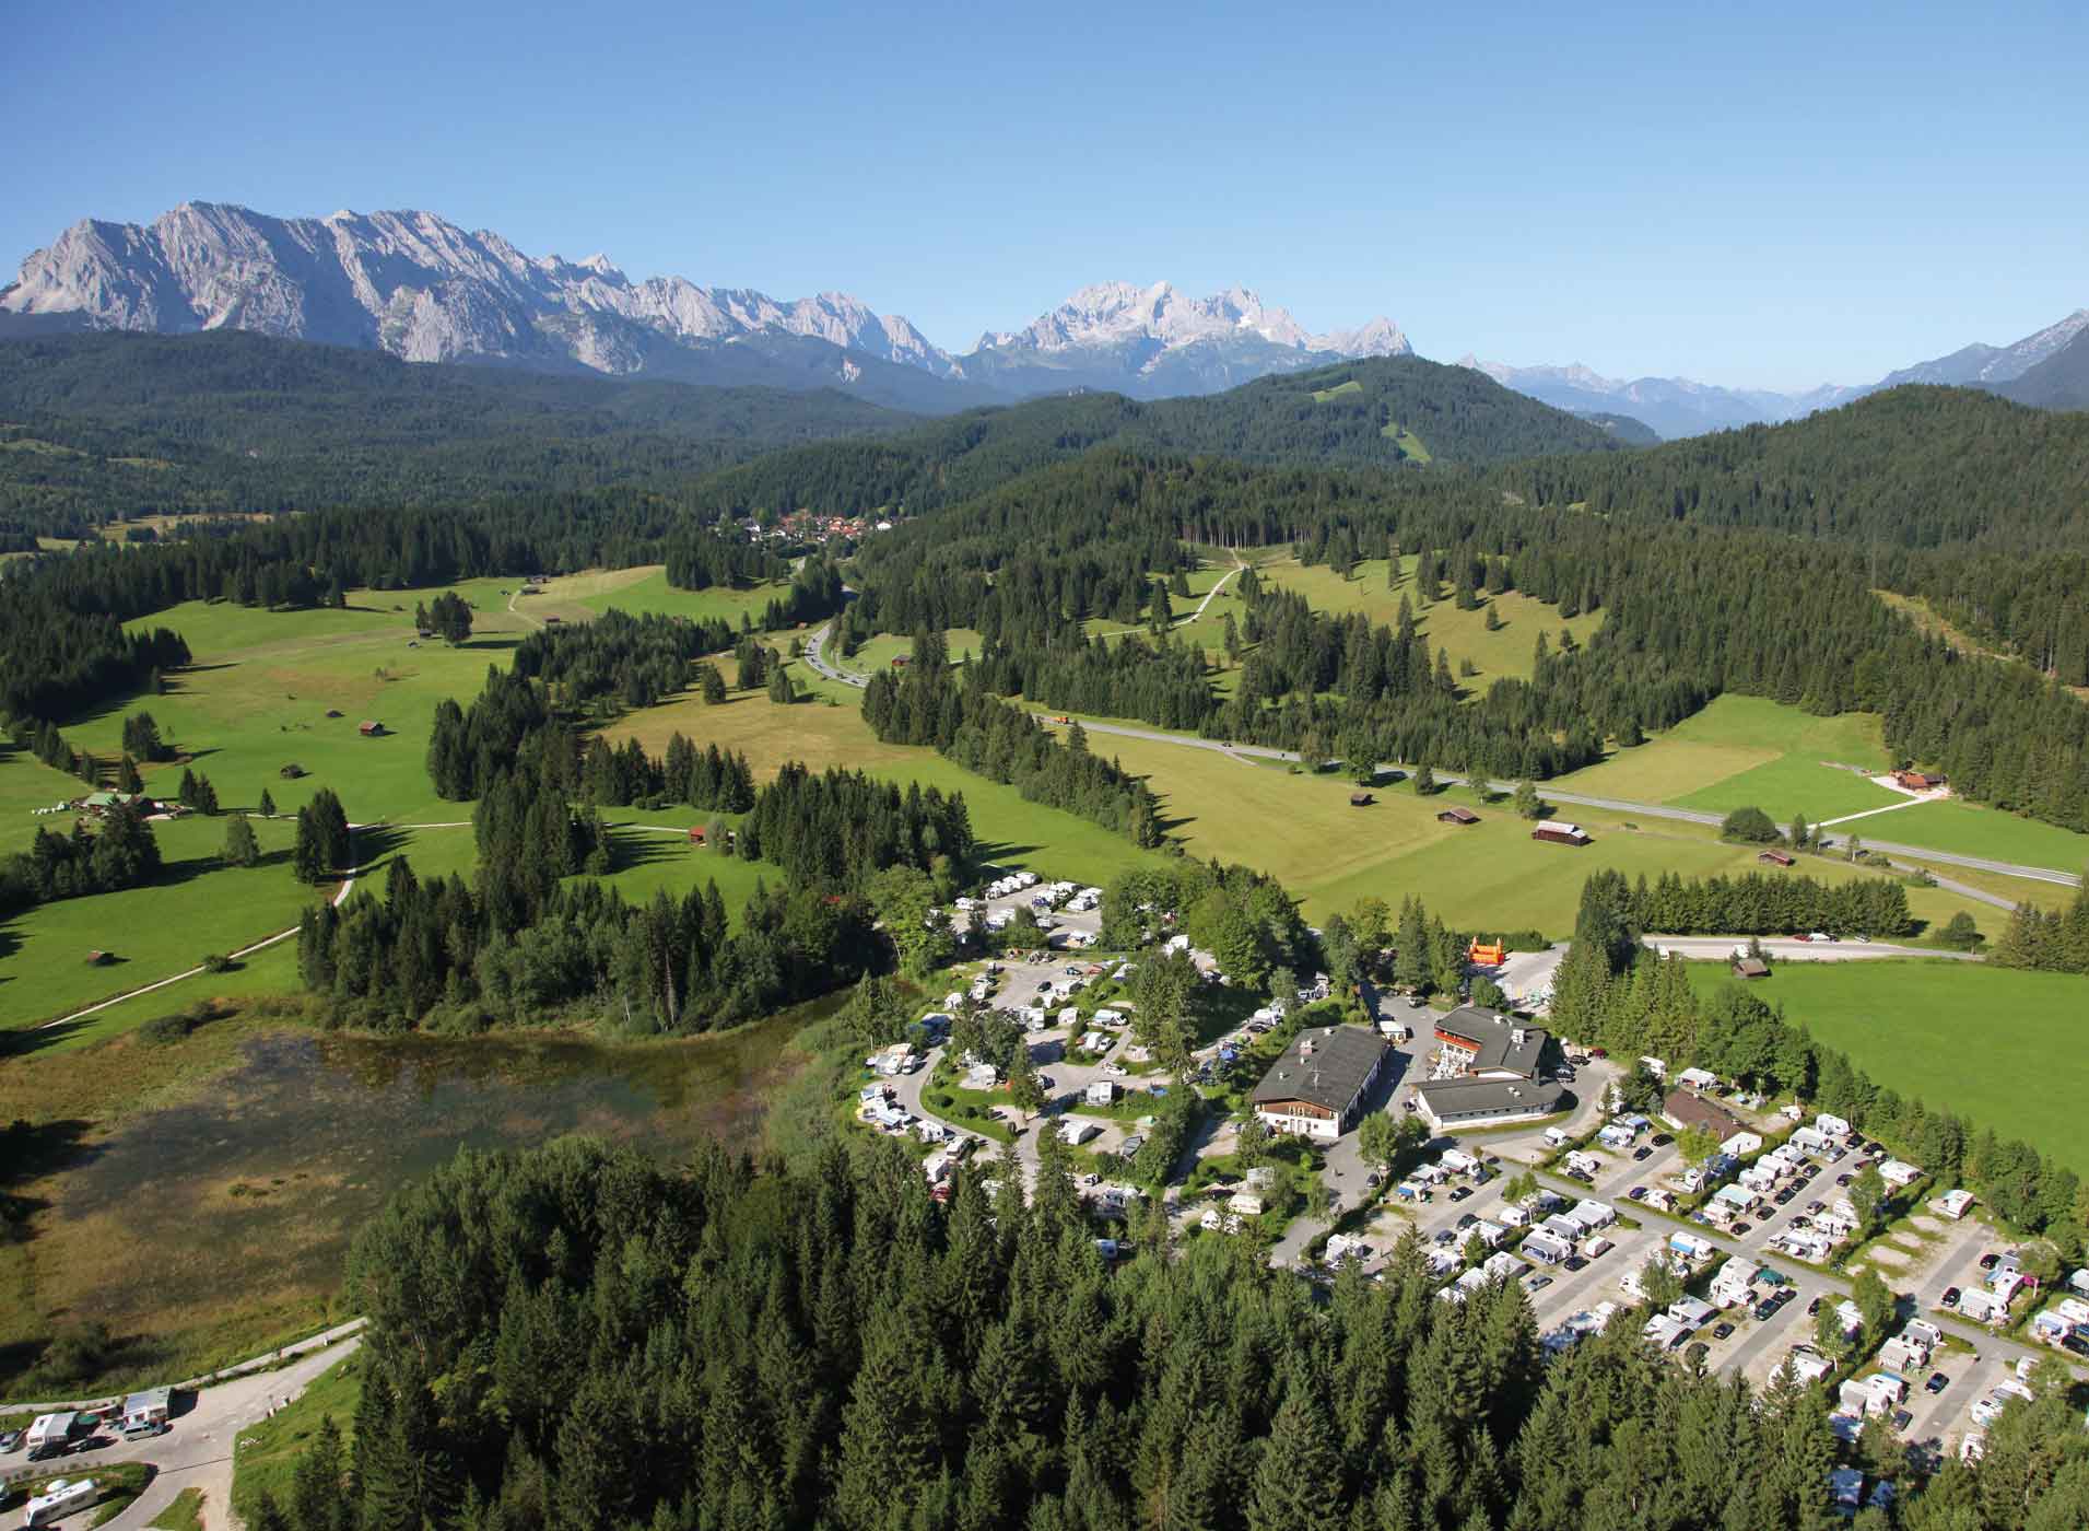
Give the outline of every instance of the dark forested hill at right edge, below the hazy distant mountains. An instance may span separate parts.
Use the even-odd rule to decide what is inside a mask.
[[[1903,386],[1782,426],[1517,464],[1500,482],[1600,516],[1888,547],[2085,547],[2089,416]]]

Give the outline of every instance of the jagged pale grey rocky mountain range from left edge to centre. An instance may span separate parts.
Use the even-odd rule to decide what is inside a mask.
[[[1410,353],[1391,320],[1316,336],[1239,288],[1189,299],[1166,282],[1113,282],[955,357],[846,292],[777,301],[679,276],[633,282],[606,255],[533,257],[424,211],[272,217],[219,203],[150,223],[88,219],[29,255],[0,288],[0,334],[61,328],[238,328],[407,361],[836,386],[930,411],[1065,388],[1212,393]]]

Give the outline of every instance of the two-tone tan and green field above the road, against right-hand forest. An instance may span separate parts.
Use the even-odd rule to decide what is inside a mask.
[[[1878,716],[1842,712],[1815,719],[1759,696],[1721,696],[1667,733],[1636,750],[1619,750],[1602,764],[1560,777],[1554,785],[1598,798],[1688,802],[1726,810],[1748,806],[1751,796],[1715,790],[1728,787],[1736,777],[1753,777],[1763,767],[1778,767],[1751,783],[1751,790],[1761,790],[1761,800],[1753,806],[1771,817],[1805,812],[1809,819],[1828,819],[1895,800],[1882,787],[1868,787],[1853,773],[1832,771],[1822,762],[1886,769],[1891,762]],[[1778,796],[1786,800],[1774,800]],[[1815,802],[1851,806],[1813,806]]]

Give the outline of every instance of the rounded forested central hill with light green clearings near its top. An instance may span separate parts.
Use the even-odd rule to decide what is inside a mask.
[[[1421,357],[1341,361],[1197,399],[1116,393],[976,409],[879,441],[829,441],[712,474],[696,501],[740,514],[777,505],[934,510],[984,495],[1093,447],[1281,466],[1504,464],[1617,451],[1625,432],[1525,399],[1471,368]]]

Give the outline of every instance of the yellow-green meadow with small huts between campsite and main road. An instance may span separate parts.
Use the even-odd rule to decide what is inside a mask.
[[[1291,775],[1247,756],[1103,733],[1090,733],[1088,748],[1161,794],[1164,823],[1184,850],[1268,871],[1316,921],[1366,896],[1398,906],[1418,894],[1464,929],[1542,929],[1565,938],[1573,932],[1581,884],[1598,869],[1634,879],[1663,871],[1684,877],[1761,871],[1753,848],[1721,844],[1709,825],[1563,808],[1558,817],[1588,827],[1594,844],[1554,846],[1531,840],[1531,827],[1506,802],[1487,804],[1464,787],[1431,798],[1418,798],[1410,783],[1372,787],[1377,802],[1356,808],[1354,785],[1333,775]],[[1439,823],[1437,812],[1454,804],[1475,808],[1481,823]],[[1826,858],[1801,867],[1826,881],[1876,875]],[[1999,936],[2005,919],[1997,909],[1928,888],[1909,890],[1909,906],[1932,925],[1964,909],[1989,936]]]

